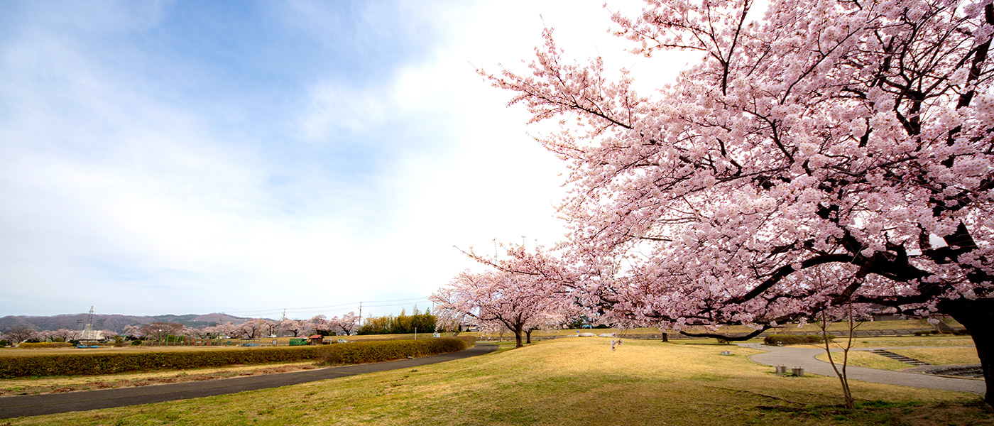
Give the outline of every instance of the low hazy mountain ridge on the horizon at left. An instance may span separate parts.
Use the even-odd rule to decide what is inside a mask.
[[[7,316],[0,318],[0,332],[15,327],[27,327],[32,330],[79,330],[86,322],[88,314],[56,315],[51,317]],[[228,314],[187,314],[187,315],[93,315],[93,330],[113,330],[121,333],[125,326],[140,326],[155,322],[180,323],[184,326],[201,328],[217,326],[227,322],[242,324],[251,318],[235,317]]]

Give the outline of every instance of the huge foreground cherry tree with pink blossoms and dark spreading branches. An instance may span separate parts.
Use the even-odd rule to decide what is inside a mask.
[[[551,30],[530,74],[489,76],[533,121],[564,117],[542,143],[572,169],[564,261],[592,283],[568,284],[675,328],[758,332],[847,304],[947,314],[973,336],[994,403],[994,6],[751,8],[613,15],[646,61],[701,56],[651,95],[600,59],[564,62]],[[847,279],[817,285],[819,265]]]

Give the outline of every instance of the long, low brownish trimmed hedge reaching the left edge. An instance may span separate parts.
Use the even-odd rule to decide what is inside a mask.
[[[93,375],[314,359],[315,347],[149,352],[138,354],[24,355],[0,358],[0,378]]]

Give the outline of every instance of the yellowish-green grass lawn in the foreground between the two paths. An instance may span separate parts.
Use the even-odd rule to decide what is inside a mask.
[[[504,346],[505,348],[508,346]],[[719,355],[731,351],[733,355]],[[785,377],[738,347],[561,339],[472,358],[12,425],[994,425],[976,395]]]

